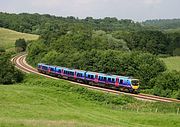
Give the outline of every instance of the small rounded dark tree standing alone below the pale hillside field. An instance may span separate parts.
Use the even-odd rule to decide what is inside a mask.
[[[15,48],[17,52],[23,52],[26,50],[27,43],[24,39],[18,39],[15,42]]]

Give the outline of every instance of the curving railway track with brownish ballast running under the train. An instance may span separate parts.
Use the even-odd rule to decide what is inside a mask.
[[[44,77],[47,77],[47,78],[52,78],[52,79],[55,79],[55,80],[59,80],[59,78],[39,73],[37,71],[37,69],[35,69],[32,66],[28,65],[26,63],[25,59],[26,59],[26,54],[22,53],[22,54],[19,54],[19,55],[13,57],[11,59],[11,61],[12,61],[12,63],[15,64],[16,68],[22,70],[25,73],[34,73],[34,74],[38,74],[38,75],[41,75],[41,76],[44,76]],[[95,90],[108,92],[108,93],[113,93],[113,94],[118,94],[118,95],[123,95],[123,94],[124,95],[130,95],[130,96],[133,96],[133,97],[135,97],[137,99],[143,99],[143,100],[147,100],[147,101],[177,102],[177,103],[180,103],[180,100],[172,99],[172,98],[165,98],[165,97],[159,97],[159,96],[148,95],[148,94],[131,94],[131,93],[125,93],[125,92],[120,92],[120,91],[116,91],[116,90],[101,88],[101,87],[97,87],[97,86],[90,86],[90,85],[87,85],[87,84],[82,84],[82,83],[77,83],[77,82],[72,82],[72,81],[69,81],[69,82],[77,84],[77,85],[81,85],[81,86],[84,86],[84,87],[88,87],[89,89],[95,89]]]

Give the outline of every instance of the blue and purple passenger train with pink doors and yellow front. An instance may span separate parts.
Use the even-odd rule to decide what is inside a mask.
[[[139,93],[139,79],[38,63],[40,73],[120,91]]]

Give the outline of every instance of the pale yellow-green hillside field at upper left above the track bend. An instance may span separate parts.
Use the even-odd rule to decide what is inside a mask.
[[[0,46],[5,49],[13,49],[15,41],[19,38],[25,40],[36,40],[38,35],[20,33],[9,29],[0,28]]]

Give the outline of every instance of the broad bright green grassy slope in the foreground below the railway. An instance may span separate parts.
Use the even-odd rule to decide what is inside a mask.
[[[179,127],[180,114],[119,110],[143,106],[169,110],[179,104],[135,101],[120,105],[99,102],[98,94],[67,81],[29,76],[24,83],[0,85],[0,126],[17,127]],[[99,93],[99,92],[98,92]],[[105,93],[99,93],[104,95]],[[88,95],[88,96],[87,96]],[[117,96],[117,95],[114,95]],[[122,96],[122,95],[121,95]],[[107,96],[109,97],[109,96]],[[123,101],[123,100],[122,100]],[[153,109],[154,110],[154,109]]]

